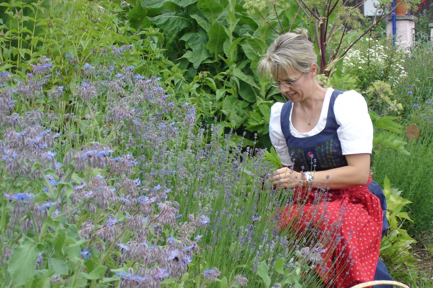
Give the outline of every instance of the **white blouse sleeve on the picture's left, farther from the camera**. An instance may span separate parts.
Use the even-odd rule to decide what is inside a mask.
[[[293,165],[283,131],[281,131],[281,108],[284,103],[277,102],[271,107],[271,116],[269,119],[269,137],[272,146],[280,156],[281,164],[285,166]]]

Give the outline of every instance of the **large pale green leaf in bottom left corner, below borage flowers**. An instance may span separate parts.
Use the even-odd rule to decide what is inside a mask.
[[[9,272],[17,286],[26,284],[36,269],[36,243],[27,242],[15,247],[9,260]]]

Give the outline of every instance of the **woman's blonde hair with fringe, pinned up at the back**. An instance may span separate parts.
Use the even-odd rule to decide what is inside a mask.
[[[317,64],[313,43],[308,40],[307,30],[298,29],[296,33],[287,32],[280,35],[269,46],[265,56],[260,59],[260,73],[278,77],[289,68],[307,73],[311,64]]]

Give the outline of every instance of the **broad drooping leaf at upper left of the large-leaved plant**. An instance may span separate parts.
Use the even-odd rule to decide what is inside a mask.
[[[164,31],[166,35],[165,45],[167,47],[173,43],[174,39],[179,38],[179,33],[182,29],[191,26],[191,20],[188,19],[186,13],[170,12],[149,19],[159,29]]]

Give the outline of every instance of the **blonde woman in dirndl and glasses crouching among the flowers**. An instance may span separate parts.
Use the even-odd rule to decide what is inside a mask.
[[[283,164],[271,181],[296,193],[282,212],[281,227],[321,231],[318,240],[327,243],[317,272],[330,287],[391,280],[378,259],[388,221],[385,196],[370,176],[373,128],[367,104],[353,90],[321,87],[317,69],[303,30],[280,35],[259,62],[259,71],[271,75],[271,85],[288,99],[272,106],[269,124]]]

